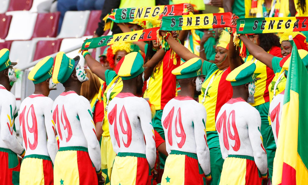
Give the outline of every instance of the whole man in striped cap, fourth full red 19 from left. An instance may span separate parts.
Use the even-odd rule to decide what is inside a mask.
[[[162,114],[168,152],[162,185],[192,184],[192,179],[193,184],[203,185],[212,180],[206,110],[194,100],[201,94],[201,65],[196,57],[172,70],[181,91],[168,101]]]

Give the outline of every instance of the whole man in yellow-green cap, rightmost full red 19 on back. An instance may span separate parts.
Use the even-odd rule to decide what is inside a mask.
[[[249,61],[226,77],[231,82],[233,97],[221,107],[216,121],[221,154],[225,159],[220,185],[267,183],[261,116],[256,108],[247,103],[255,92],[255,81],[260,79],[255,78],[255,70],[256,64]]]

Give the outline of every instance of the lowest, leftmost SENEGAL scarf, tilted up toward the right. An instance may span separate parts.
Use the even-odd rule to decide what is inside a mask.
[[[115,42],[137,42],[137,41],[156,40],[157,30],[159,30],[159,27],[145,29],[145,30],[131,31],[126,33],[119,33],[115,35],[106,35],[94,39],[86,39],[82,44],[81,49],[82,50],[93,49],[96,47],[107,46]]]

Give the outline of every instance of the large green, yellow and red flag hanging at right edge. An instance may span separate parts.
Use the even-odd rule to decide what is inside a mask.
[[[308,73],[293,43],[283,101],[273,185],[308,182]]]

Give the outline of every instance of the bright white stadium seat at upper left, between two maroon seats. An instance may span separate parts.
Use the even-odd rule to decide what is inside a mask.
[[[11,11],[6,15],[13,15],[6,40],[29,40],[33,34],[37,13],[29,11]]]

